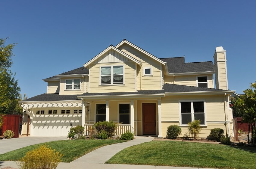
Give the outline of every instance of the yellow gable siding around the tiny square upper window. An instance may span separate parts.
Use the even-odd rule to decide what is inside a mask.
[[[161,71],[159,62],[127,44],[123,44],[118,49],[142,62],[142,66],[137,67],[139,72],[137,77],[137,90],[161,89]],[[143,68],[145,67],[152,67],[152,76],[143,76]]]

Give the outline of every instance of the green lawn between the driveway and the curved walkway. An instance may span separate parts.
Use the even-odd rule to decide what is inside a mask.
[[[40,145],[49,145],[52,149],[64,154],[62,162],[72,162],[73,160],[109,144],[124,142],[123,140],[61,140],[51,141],[42,144],[35,144],[0,154],[0,161],[18,161],[27,151],[38,148]]]

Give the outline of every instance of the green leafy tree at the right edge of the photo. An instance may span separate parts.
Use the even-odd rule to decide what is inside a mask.
[[[242,122],[248,123],[248,143],[251,127],[251,137],[253,144],[255,144],[253,133],[256,133],[256,81],[255,83],[251,83],[249,89],[246,89],[243,92],[245,94],[236,100],[235,107],[242,112]]]

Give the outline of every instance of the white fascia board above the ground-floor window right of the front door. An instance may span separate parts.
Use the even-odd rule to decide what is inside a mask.
[[[165,92],[165,96],[171,96],[171,95],[215,95],[215,94],[221,94],[221,95],[232,95],[235,92],[235,90],[229,90],[229,91],[198,91],[198,92]]]

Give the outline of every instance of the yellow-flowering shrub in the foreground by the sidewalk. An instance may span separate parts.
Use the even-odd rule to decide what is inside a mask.
[[[56,168],[61,162],[63,154],[55,152],[51,147],[41,145],[39,148],[28,151],[26,155],[17,162],[20,169],[28,168]]]

